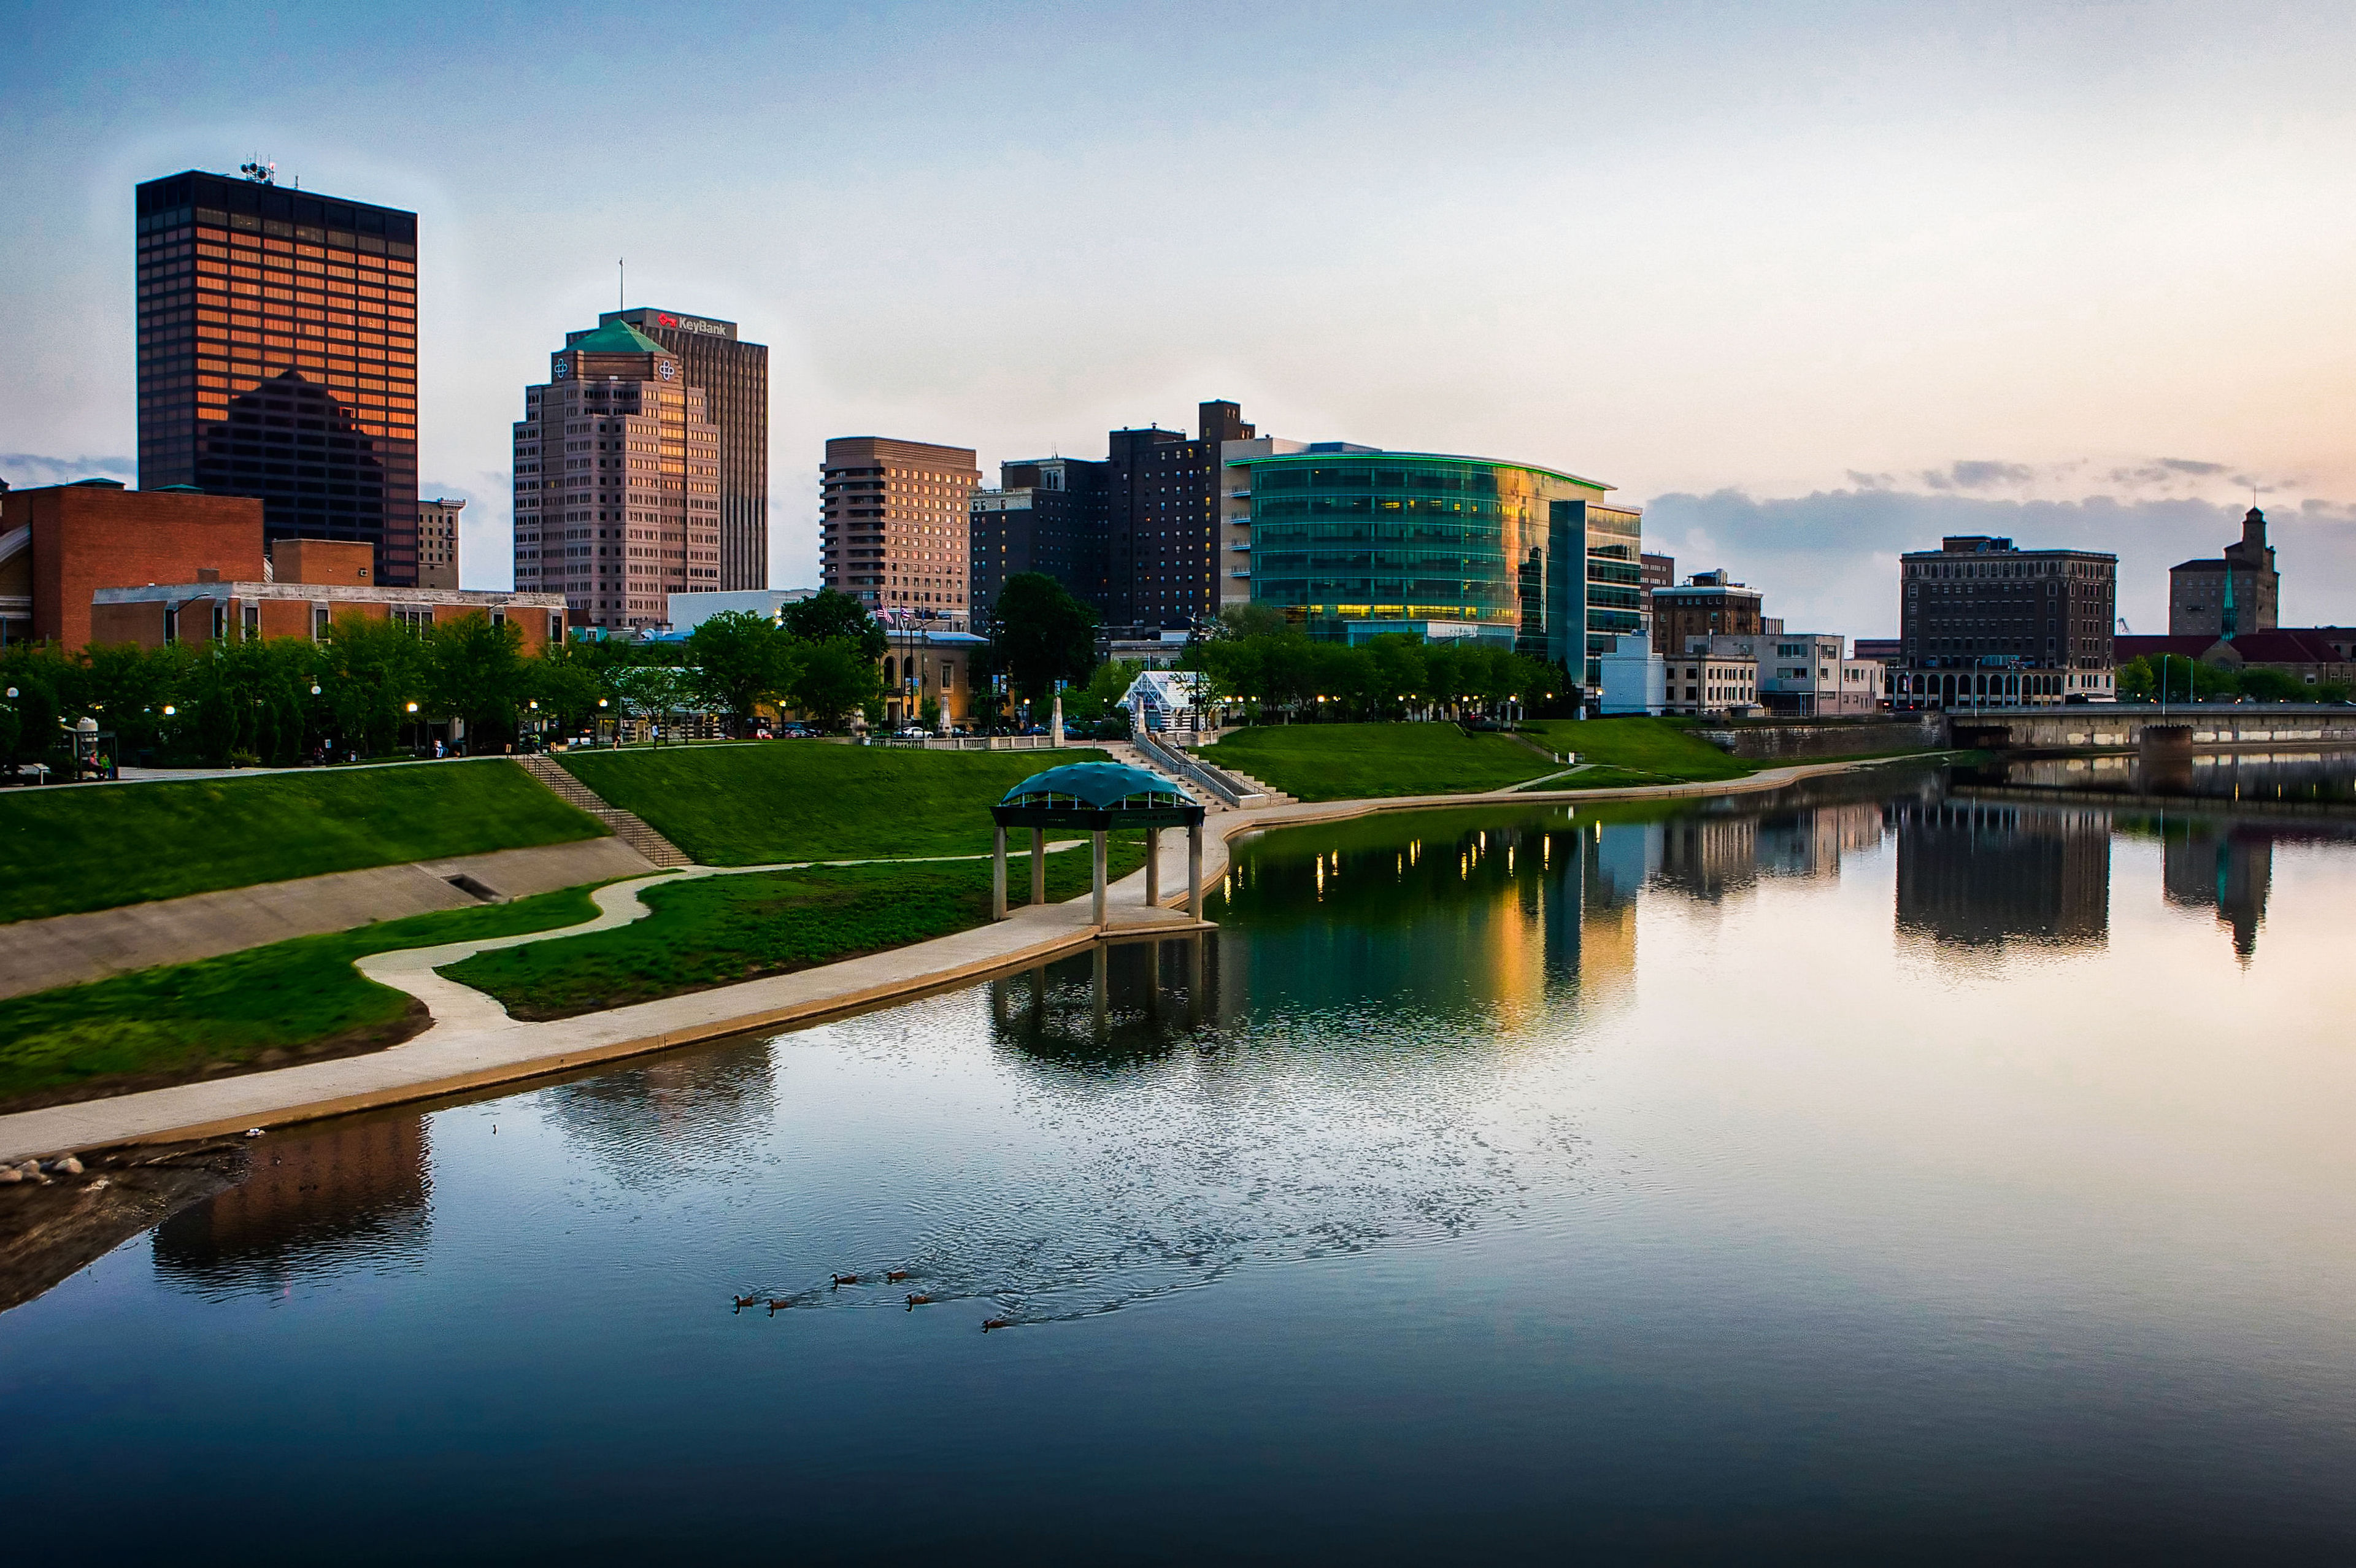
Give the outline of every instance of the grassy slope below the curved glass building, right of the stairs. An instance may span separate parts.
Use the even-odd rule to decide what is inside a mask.
[[[1204,758],[1298,800],[1454,796],[1557,772],[1555,763],[1503,735],[1430,723],[1258,725],[1206,746]]]

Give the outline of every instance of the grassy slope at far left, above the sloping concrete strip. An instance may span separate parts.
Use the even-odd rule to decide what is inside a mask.
[[[0,923],[603,833],[495,758],[16,789],[0,793]]]

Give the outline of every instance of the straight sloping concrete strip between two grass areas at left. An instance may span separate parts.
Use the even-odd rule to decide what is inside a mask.
[[[653,869],[620,838],[582,838],[530,850],[221,888],[47,921],[12,921],[0,925],[0,996],[78,986],[158,963],[193,963],[264,942],[481,904],[476,895],[455,885],[452,876],[466,876],[502,897],[528,897],[617,876],[646,876]]]

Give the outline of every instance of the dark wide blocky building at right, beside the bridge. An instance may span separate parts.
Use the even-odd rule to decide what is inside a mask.
[[[2113,695],[2118,556],[1951,534],[1899,556],[1892,692],[1904,706],[2038,706]]]

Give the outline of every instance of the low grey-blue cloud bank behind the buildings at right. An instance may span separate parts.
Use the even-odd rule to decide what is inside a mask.
[[[2356,506],[2269,509],[2283,570],[2283,624],[2356,622]],[[2191,497],[2076,501],[1920,494],[1859,485],[1802,497],[1659,494],[1644,504],[1644,549],[1677,556],[1677,572],[1727,567],[1762,589],[1767,614],[1793,631],[1894,636],[1897,558],[1939,549],[1944,534],[2005,534],[2021,549],[2118,556],[2118,612],[2137,631],[2168,626],[2168,567],[2215,556],[2241,537],[2241,506]]]

